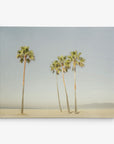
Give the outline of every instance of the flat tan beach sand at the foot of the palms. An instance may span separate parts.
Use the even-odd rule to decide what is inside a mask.
[[[55,109],[0,109],[0,118],[114,118],[114,109],[79,109],[78,114]]]

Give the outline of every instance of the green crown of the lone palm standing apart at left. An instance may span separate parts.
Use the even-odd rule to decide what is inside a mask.
[[[27,63],[30,63],[31,60],[35,60],[35,56],[32,50],[29,50],[28,46],[22,46],[21,50],[17,51],[17,58],[20,59],[20,62],[23,63],[26,59]]]

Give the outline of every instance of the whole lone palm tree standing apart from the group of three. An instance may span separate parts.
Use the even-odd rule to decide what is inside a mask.
[[[35,60],[35,56],[32,50],[29,50],[28,46],[22,46],[21,50],[17,51],[17,58],[20,59],[20,62],[24,62],[24,71],[23,71],[23,89],[22,89],[22,104],[21,104],[21,114],[23,114],[24,109],[24,85],[25,85],[25,68],[26,62],[30,63],[31,60]]]

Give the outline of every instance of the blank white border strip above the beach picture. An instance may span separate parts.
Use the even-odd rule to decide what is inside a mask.
[[[114,26],[113,0],[0,0],[0,26]]]

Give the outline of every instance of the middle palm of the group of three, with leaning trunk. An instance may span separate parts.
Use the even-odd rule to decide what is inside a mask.
[[[64,84],[64,88],[65,88],[65,93],[66,93],[67,109],[68,109],[68,112],[70,113],[68,94],[67,94],[67,89],[66,89],[66,84],[65,84],[65,79],[64,79],[64,73],[67,72],[68,69],[70,68],[70,61],[67,59],[67,56],[59,56],[58,61],[61,65],[61,69],[62,69],[62,77],[63,77],[63,84]]]

